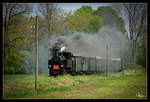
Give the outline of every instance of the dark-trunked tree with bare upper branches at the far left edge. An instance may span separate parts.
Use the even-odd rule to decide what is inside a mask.
[[[30,11],[30,7],[28,4],[17,4],[17,3],[3,3],[3,47],[4,47],[4,67],[6,66],[6,53],[10,51],[10,48],[14,47],[13,44],[16,43],[17,40],[22,40],[22,37],[13,37],[10,39],[10,26],[13,25],[12,19],[20,14]]]

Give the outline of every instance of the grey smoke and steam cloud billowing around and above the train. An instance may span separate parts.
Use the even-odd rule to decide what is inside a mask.
[[[86,34],[74,32],[70,35],[51,36],[46,35],[39,42],[39,72],[48,74],[48,60],[52,57],[49,48],[60,42],[62,46],[66,46],[66,50],[81,56],[106,56],[106,45],[108,44],[109,57],[118,58],[121,55],[121,50],[126,43],[124,35],[110,26],[105,26],[95,34]],[[26,60],[30,62],[30,66],[35,68],[35,48],[31,52],[31,56]],[[34,70],[34,69],[33,69]]]

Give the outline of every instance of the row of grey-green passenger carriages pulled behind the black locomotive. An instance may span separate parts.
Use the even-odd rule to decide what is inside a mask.
[[[109,58],[108,59],[108,71],[118,72],[121,69],[120,58]],[[72,57],[72,68],[73,74],[87,74],[87,73],[105,73],[106,72],[106,59],[103,57],[84,57],[74,55]]]

